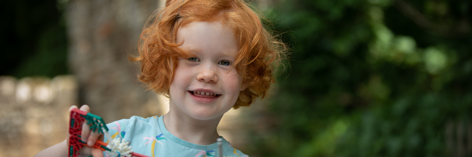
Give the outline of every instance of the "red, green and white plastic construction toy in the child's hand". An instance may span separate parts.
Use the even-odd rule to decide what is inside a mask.
[[[94,131],[102,132],[110,140],[110,143],[104,143],[97,140],[93,145],[93,148],[101,149],[102,151],[109,152],[110,157],[148,157],[142,154],[134,153],[129,146],[129,141],[120,140],[119,138],[112,139],[108,133],[108,128],[105,122],[100,116],[96,116],[92,113],[81,111],[77,108],[72,109],[69,119],[69,157],[77,157],[79,149],[83,148],[87,143],[80,140],[82,133],[82,123],[87,120],[87,124],[92,124],[90,129]]]

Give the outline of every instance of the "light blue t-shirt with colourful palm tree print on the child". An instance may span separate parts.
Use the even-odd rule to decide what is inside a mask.
[[[149,157],[218,157],[218,144],[198,145],[179,139],[167,131],[163,116],[132,116],[107,124],[111,138],[130,142],[133,152]],[[223,157],[248,157],[234,149],[223,137]],[[108,143],[107,137],[104,141]],[[109,157],[109,154],[104,154]]]

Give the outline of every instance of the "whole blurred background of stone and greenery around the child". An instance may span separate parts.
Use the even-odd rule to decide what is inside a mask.
[[[472,156],[470,0],[254,0],[292,49],[267,99],[219,133],[251,157]],[[65,139],[67,108],[113,122],[160,116],[136,52],[155,0],[0,6],[0,157]]]

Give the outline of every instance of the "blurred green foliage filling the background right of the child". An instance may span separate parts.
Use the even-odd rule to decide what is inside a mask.
[[[447,125],[472,115],[471,4],[274,1],[269,17],[293,54],[271,97],[275,124],[254,129],[246,153],[455,156]]]

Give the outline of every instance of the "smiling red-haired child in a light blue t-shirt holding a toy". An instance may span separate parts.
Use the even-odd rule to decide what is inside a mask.
[[[169,113],[107,124],[111,138],[130,141],[134,152],[152,157],[218,156],[221,117],[265,96],[285,50],[242,0],[168,0],[148,20],[139,56],[130,59],[141,63],[139,80],[148,89],[169,97]],[[89,111],[86,105],[80,109]],[[84,124],[83,141],[92,146],[99,138]],[[224,139],[223,152],[247,157]],[[80,153],[104,155],[90,147]],[[51,154],[67,156],[67,140],[37,156]]]

